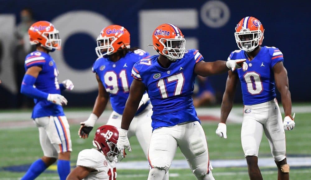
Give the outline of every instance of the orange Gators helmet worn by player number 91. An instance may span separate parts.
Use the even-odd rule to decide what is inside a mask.
[[[130,33],[123,26],[109,25],[101,30],[95,48],[98,57],[111,55],[122,48],[130,48]]]

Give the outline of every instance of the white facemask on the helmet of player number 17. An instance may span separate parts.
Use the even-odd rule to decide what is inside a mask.
[[[186,39],[182,36],[176,36],[174,39],[161,38],[159,42],[164,46],[162,55],[166,56],[171,61],[183,58],[186,48]]]

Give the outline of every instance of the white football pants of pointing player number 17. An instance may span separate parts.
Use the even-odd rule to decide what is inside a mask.
[[[151,135],[149,146],[150,167],[167,171],[177,146],[198,179],[211,172],[205,133],[198,121],[156,128]]]

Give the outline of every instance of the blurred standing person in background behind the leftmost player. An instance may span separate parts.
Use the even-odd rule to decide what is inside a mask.
[[[14,43],[12,48],[13,67],[15,72],[15,83],[17,87],[16,106],[27,108],[32,106],[33,100],[21,94],[21,83],[25,74],[25,57],[32,51],[35,46],[30,45],[28,29],[35,22],[33,12],[30,8],[24,8],[20,12],[21,22],[14,32]]]

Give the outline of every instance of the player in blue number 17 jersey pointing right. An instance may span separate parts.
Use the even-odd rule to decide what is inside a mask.
[[[128,129],[147,90],[153,106],[148,179],[160,180],[165,176],[178,146],[197,179],[214,179],[205,133],[193,106],[193,84],[197,75],[208,76],[240,68],[245,59],[204,62],[198,50],[185,51],[186,40],[172,24],[158,26],[152,39],[159,55],[142,59],[133,66],[134,80],[117,146],[121,153],[124,148],[131,151]]]

